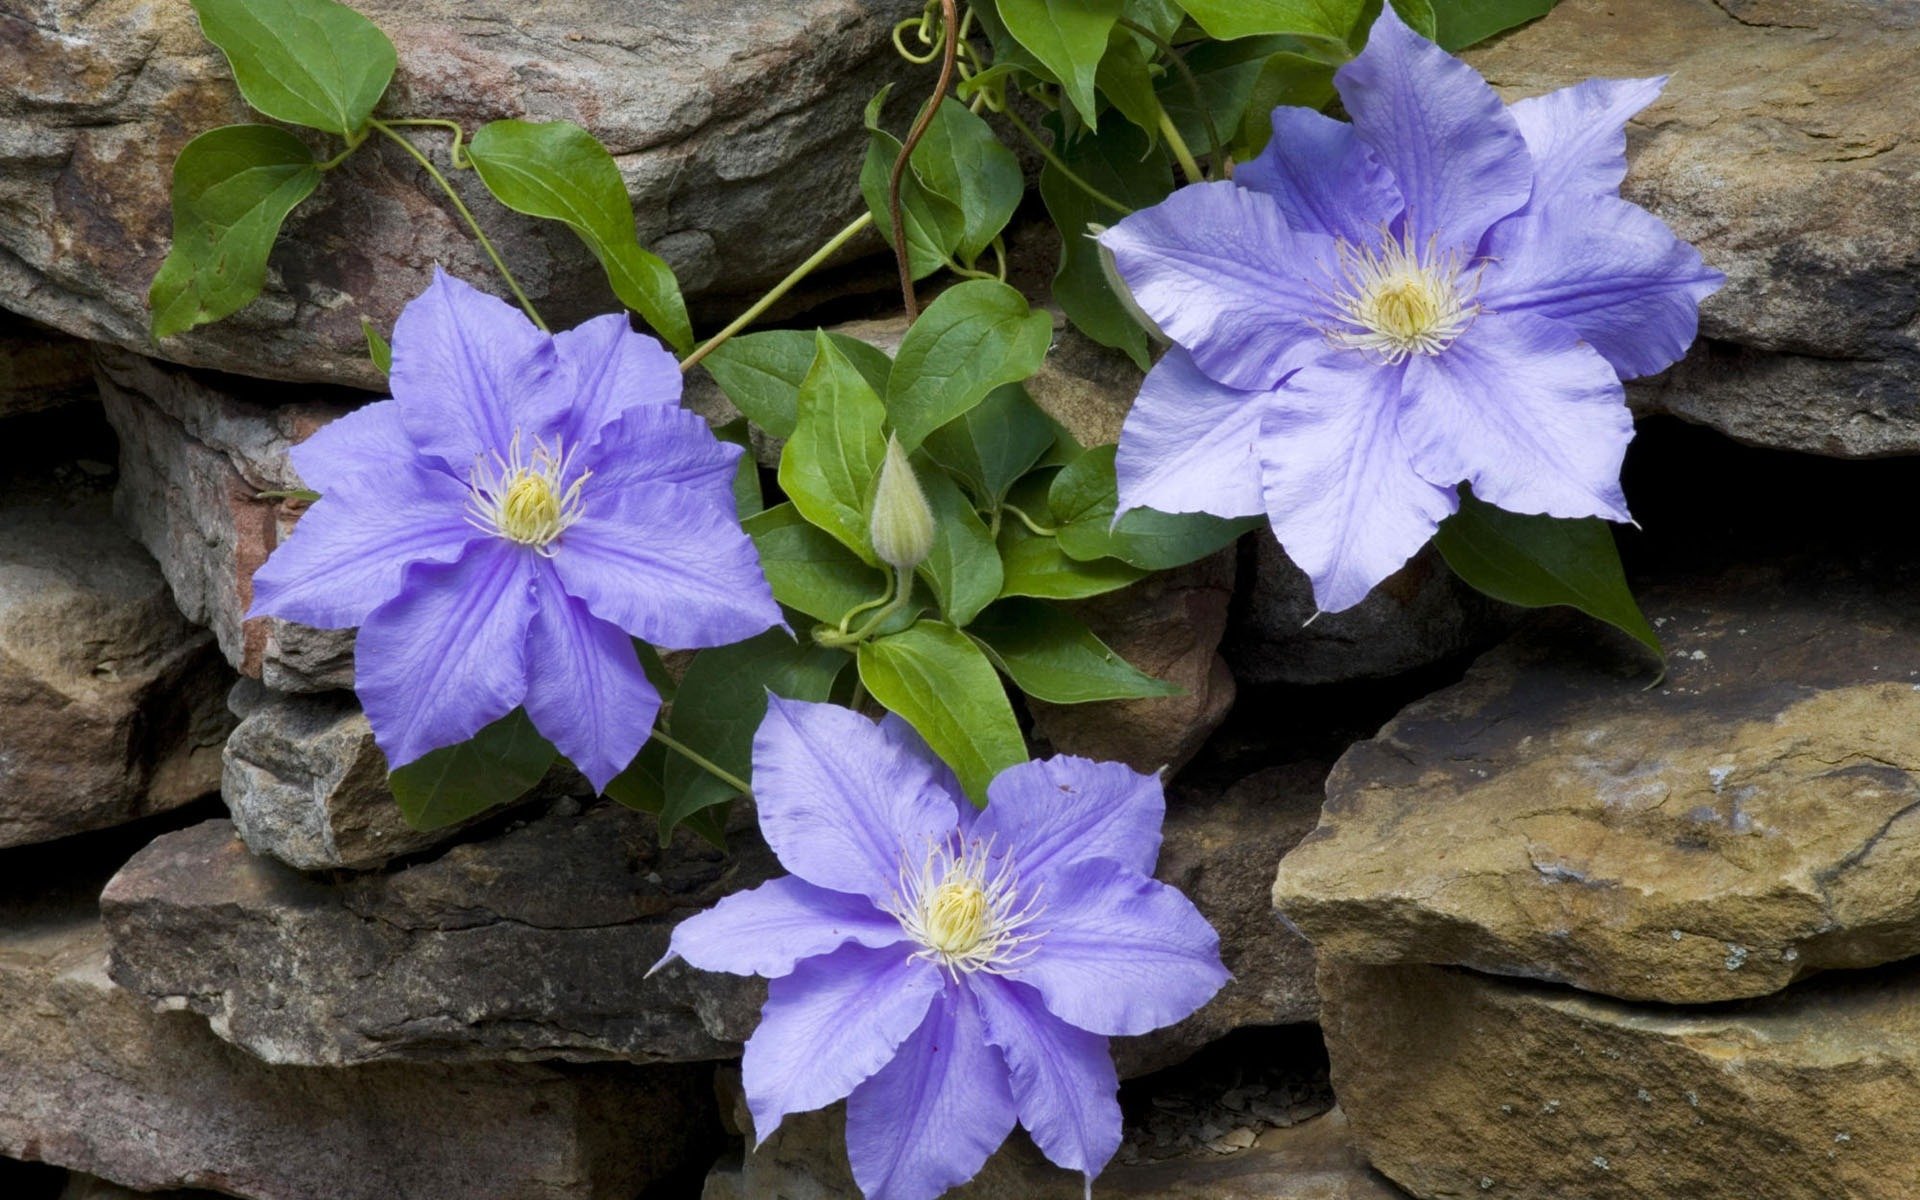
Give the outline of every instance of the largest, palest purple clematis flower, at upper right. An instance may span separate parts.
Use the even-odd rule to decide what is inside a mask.
[[[1102,234],[1173,340],[1119,436],[1119,511],[1265,513],[1321,611],[1459,507],[1630,520],[1622,378],[1674,363],[1720,286],[1620,200],[1665,79],[1505,106],[1382,6],[1334,75],[1352,125],[1273,111],[1233,182]]]

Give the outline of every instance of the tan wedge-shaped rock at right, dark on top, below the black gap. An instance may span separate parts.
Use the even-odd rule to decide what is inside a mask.
[[[1642,599],[1663,687],[1563,624],[1348,751],[1273,891],[1323,956],[1713,1002],[1920,954],[1920,576]]]

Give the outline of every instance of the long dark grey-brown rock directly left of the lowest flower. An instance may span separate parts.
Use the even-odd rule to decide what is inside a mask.
[[[653,818],[570,801],[497,837],[336,883],[255,858],[228,822],[169,833],[108,885],[113,979],[276,1064],[699,1060],[739,1052],[764,987],[684,964],[674,924],[772,874]]]

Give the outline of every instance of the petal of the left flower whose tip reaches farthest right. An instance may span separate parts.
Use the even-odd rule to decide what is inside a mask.
[[[659,647],[732,645],[780,624],[739,520],[676,484],[595,490],[553,568],[595,616]]]

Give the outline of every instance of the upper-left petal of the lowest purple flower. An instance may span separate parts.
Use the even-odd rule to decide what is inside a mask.
[[[902,854],[954,828],[954,797],[925,758],[839,705],[766,697],[753,735],[766,845],[795,876],[885,902]]]

